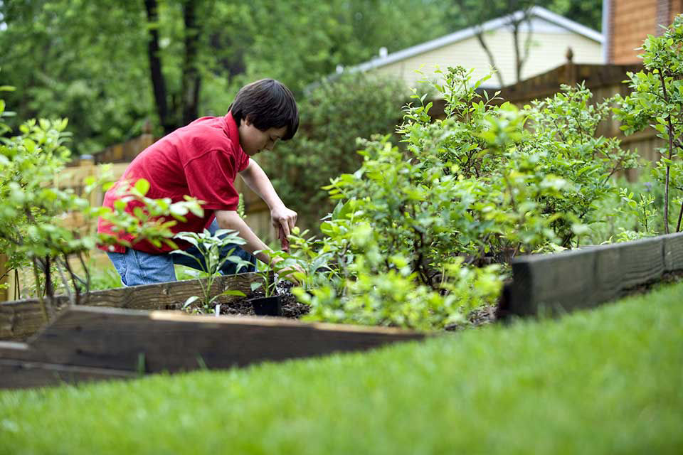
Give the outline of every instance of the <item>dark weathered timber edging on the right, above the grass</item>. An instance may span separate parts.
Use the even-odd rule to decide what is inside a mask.
[[[512,262],[502,314],[558,313],[596,306],[683,270],[683,232]]]

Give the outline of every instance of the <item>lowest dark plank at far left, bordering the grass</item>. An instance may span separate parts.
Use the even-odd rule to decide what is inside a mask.
[[[0,358],[0,387],[6,389],[26,389],[94,380],[134,379],[138,377],[137,373],[130,371]]]

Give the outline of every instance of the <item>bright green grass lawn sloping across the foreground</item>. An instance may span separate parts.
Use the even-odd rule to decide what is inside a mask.
[[[1,454],[680,454],[683,283],[559,320],[0,393]]]

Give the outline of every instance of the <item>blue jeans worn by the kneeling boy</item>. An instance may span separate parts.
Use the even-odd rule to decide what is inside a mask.
[[[213,235],[218,230],[218,223],[213,220],[213,223],[208,228],[208,231]],[[231,250],[234,251],[231,253]],[[186,252],[193,255],[199,261],[201,266],[195,259],[185,255],[162,253],[160,255],[151,255],[146,252],[133,250],[127,248],[125,253],[107,252],[117,272],[121,275],[121,282],[124,286],[137,286],[138,284],[153,284],[163,282],[176,281],[176,272],[173,268],[174,264],[192,267],[193,269],[202,270],[206,267],[204,258],[199,253],[196,247],[191,246]],[[239,245],[226,245],[221,249],[221,257],[226,257],[228,254],[239,256],[242,259],[250,262],[250,267],[243,267],[240,272],[254,272],[256,269],[256,257],[249,252],[246,252]],[[237,264],[231,261],[226,261],[221,267],[221,274],[231,275],[237,273]]]

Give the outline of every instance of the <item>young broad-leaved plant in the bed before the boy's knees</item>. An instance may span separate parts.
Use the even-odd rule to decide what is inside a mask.
[[[235,250],[228,251],[228,254],[221,255],[221,251],[224,247],[228,245],[244,245],[245,240],[237,235],[234,230],[221,229],[217,230],[213,235],[208,230],[204,230],[201,233],[197,232],[179,232],[175,236],[180,240],[188,242],[193,245],[198,250],[201,255],[201,259],[191,255],[189,252],[184,250],[175,250],[174,253],[178,255],[184,255],[197,262],[198,268],[202,272],[206,273],[206,279],[200,279],[199,285],[201,286],[201,296],[191,296],[186,299],[183,304],[183,309],[186,309],[190,304],[196,300],[201,299],[201,308],[195,308],[198,312],[209,311],[213,306],[213,302],[216,301],[221,296],[244,296],[241,291],[234,291],[228,289],[221,292],[220,294],[213,294],[211,288],[213,287],[213,282],[216,281],[216,277],[220,275],[221,267],[228,261],[237,263],[237,272],[240,271],[242,267],[245,267],[248,262],[244,261],[238,257],[233,256],[232,253]],[[203,259],[203,260],[202,260]],[[213,307],[216,314],[220,314],[219,305]]]

